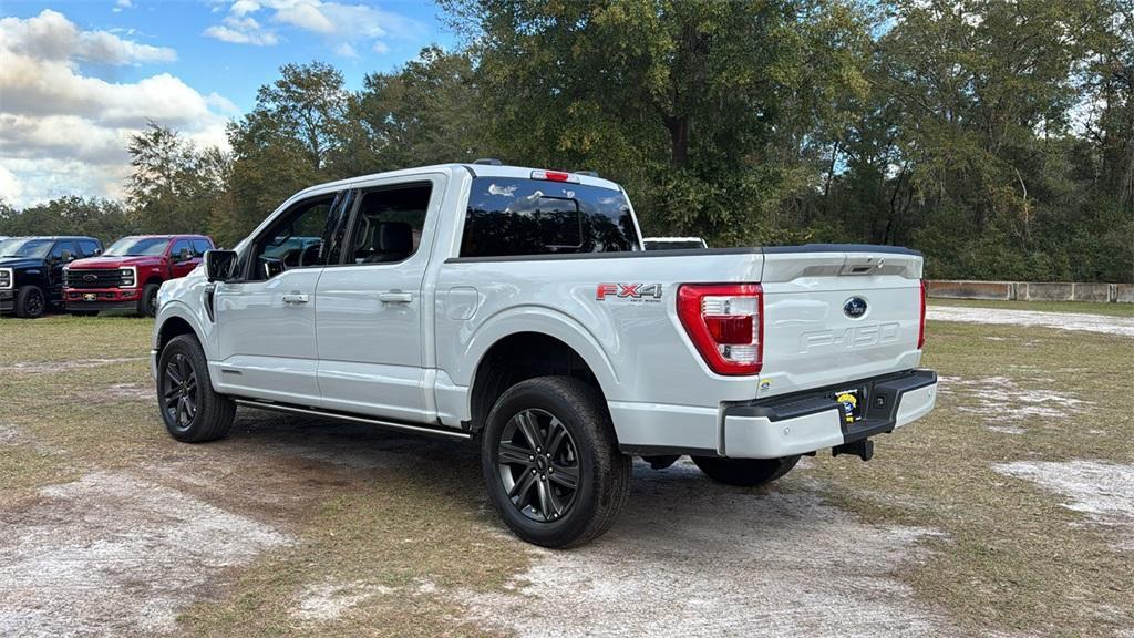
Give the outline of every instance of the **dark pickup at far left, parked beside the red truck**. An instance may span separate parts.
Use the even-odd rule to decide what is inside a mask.
[[[94,237],[9,237],[0,242],[0,313],[35,318],[64,304],[64,267],[102,252]]]

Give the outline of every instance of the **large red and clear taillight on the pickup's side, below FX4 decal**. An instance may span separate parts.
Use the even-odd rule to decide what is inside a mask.
[[[688,284],[677,316],[718,375],[758,375],[764,359],[764,291],[760,284]]]

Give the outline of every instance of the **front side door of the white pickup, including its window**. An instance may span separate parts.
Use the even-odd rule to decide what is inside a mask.
[[[245,247],[240,279],[217,283],[210,373],[220,392],[320,405],[316,285],[340,258],[344,203],[331,192],[293,204]]]

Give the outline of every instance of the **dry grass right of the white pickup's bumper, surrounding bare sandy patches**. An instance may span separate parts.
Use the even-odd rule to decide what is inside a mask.
[[[1010,397],[1004,413],[988,413],[975,396],[980,386],[964,386],[941,394],[928,418],[879,437],[872,462],[840,457],[807,471],[836,504],[868,520],[943,531],[904,578],[978,632],[1100,636],[1134,627],[1134,556],[1116,548],[1112,530],[992,470],[1017,460],[1134,462],[1134,339],[931,322],[924,364],[989,387],[1004,378],[1035,397],[1058,392],[1089,403],[1065,417],[1009,421],[1018,406]],[[1024,431],[989,429],[1004,423]]]

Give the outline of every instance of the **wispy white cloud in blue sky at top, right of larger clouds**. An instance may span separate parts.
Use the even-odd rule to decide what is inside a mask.
[[[425,27],[406,16],[384,11],[370,5],[346,5],[322,0],[236,0],[229,6],[229,15],[219,25],[205,30],[205,35],[242,44],[274,44],[274,33],[260,26],[253,19],[257,16],[284,28],[324,36],[328,45],[340,54],[356,57],[357,44],[367,44],[371,50],[386,53],[386,39],[414,39],[425,32]],[[237,24],[236,20],[252,20]],[[255,26],[252,26],[255,25]],[[270,33],[271,37],[257,37]],[[346,51],[350,53],[346,53]]]

